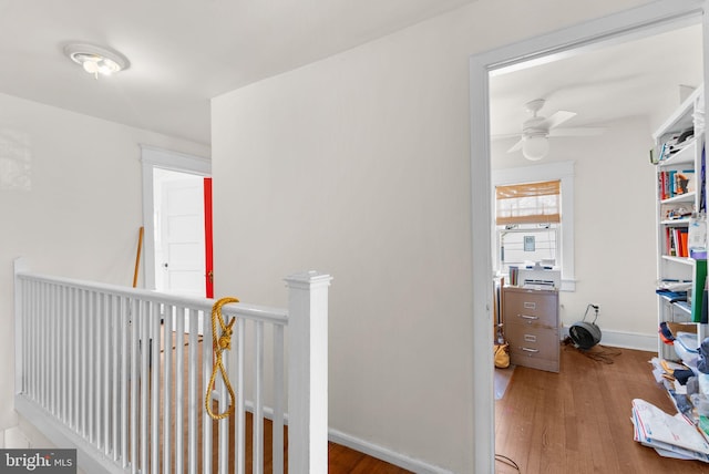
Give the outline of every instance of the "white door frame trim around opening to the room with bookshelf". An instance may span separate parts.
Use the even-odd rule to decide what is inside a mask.
[[[556,58],[605,48],[658,31],[702,23],[707,31],[707,19],[702,14],[703,2],[659,1],[633,10],[558,30],[528,41],[489,51],[471,58],[471,185],[473,256],[473,320],[475,327],[492,327],[493,280],[492,231],[480,231],[483,226],[492,229],[491,207],[491,103],[490,76],[502,70],[526,68],[534,63],[549,62]],[[706,35],[706,33],[705,33]],[[707,44],[702,38],[703,68],[707,68]],[[706,74],[705,74],[706,75]],[[530,97],[533,100],[536,97]],[[523,104],[522,104],[523,105]],[[474,331],[473,358],[489,363],[475,363],[473,380],[474,452],[475,471],[494,471],[494,396],[491,331]]]

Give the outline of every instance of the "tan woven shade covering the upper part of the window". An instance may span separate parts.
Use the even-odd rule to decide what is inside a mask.
[[[522,183],[495,187],[499,226],[561,223],[561,181]]]

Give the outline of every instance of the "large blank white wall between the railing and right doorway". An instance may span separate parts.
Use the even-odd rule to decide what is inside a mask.
[[[472,471],[469,55],[641,3],[479,0],[213,101],[216,291],[333,275],[333,429]]]

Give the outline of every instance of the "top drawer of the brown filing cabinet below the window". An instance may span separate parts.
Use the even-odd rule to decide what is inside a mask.
[[[503,298],[505,324],[524,323],[556,328],[558,295],[556,291],[506,289]]]

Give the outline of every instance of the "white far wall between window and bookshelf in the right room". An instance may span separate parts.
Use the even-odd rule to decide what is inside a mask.
[[[597,324],[605,340],[637,348],[657,346],[655,166],[647,117],[604,124],[592,137],[555,137],[543,163],[573,161],[575,178],[576,291],[562,292],[566,328],[600,307]],[[530,166],[510,143],[493,143],[493,168]],[[593,312],[589,313],[593,318]],[[605,342],[602,341],[602,343]]]

